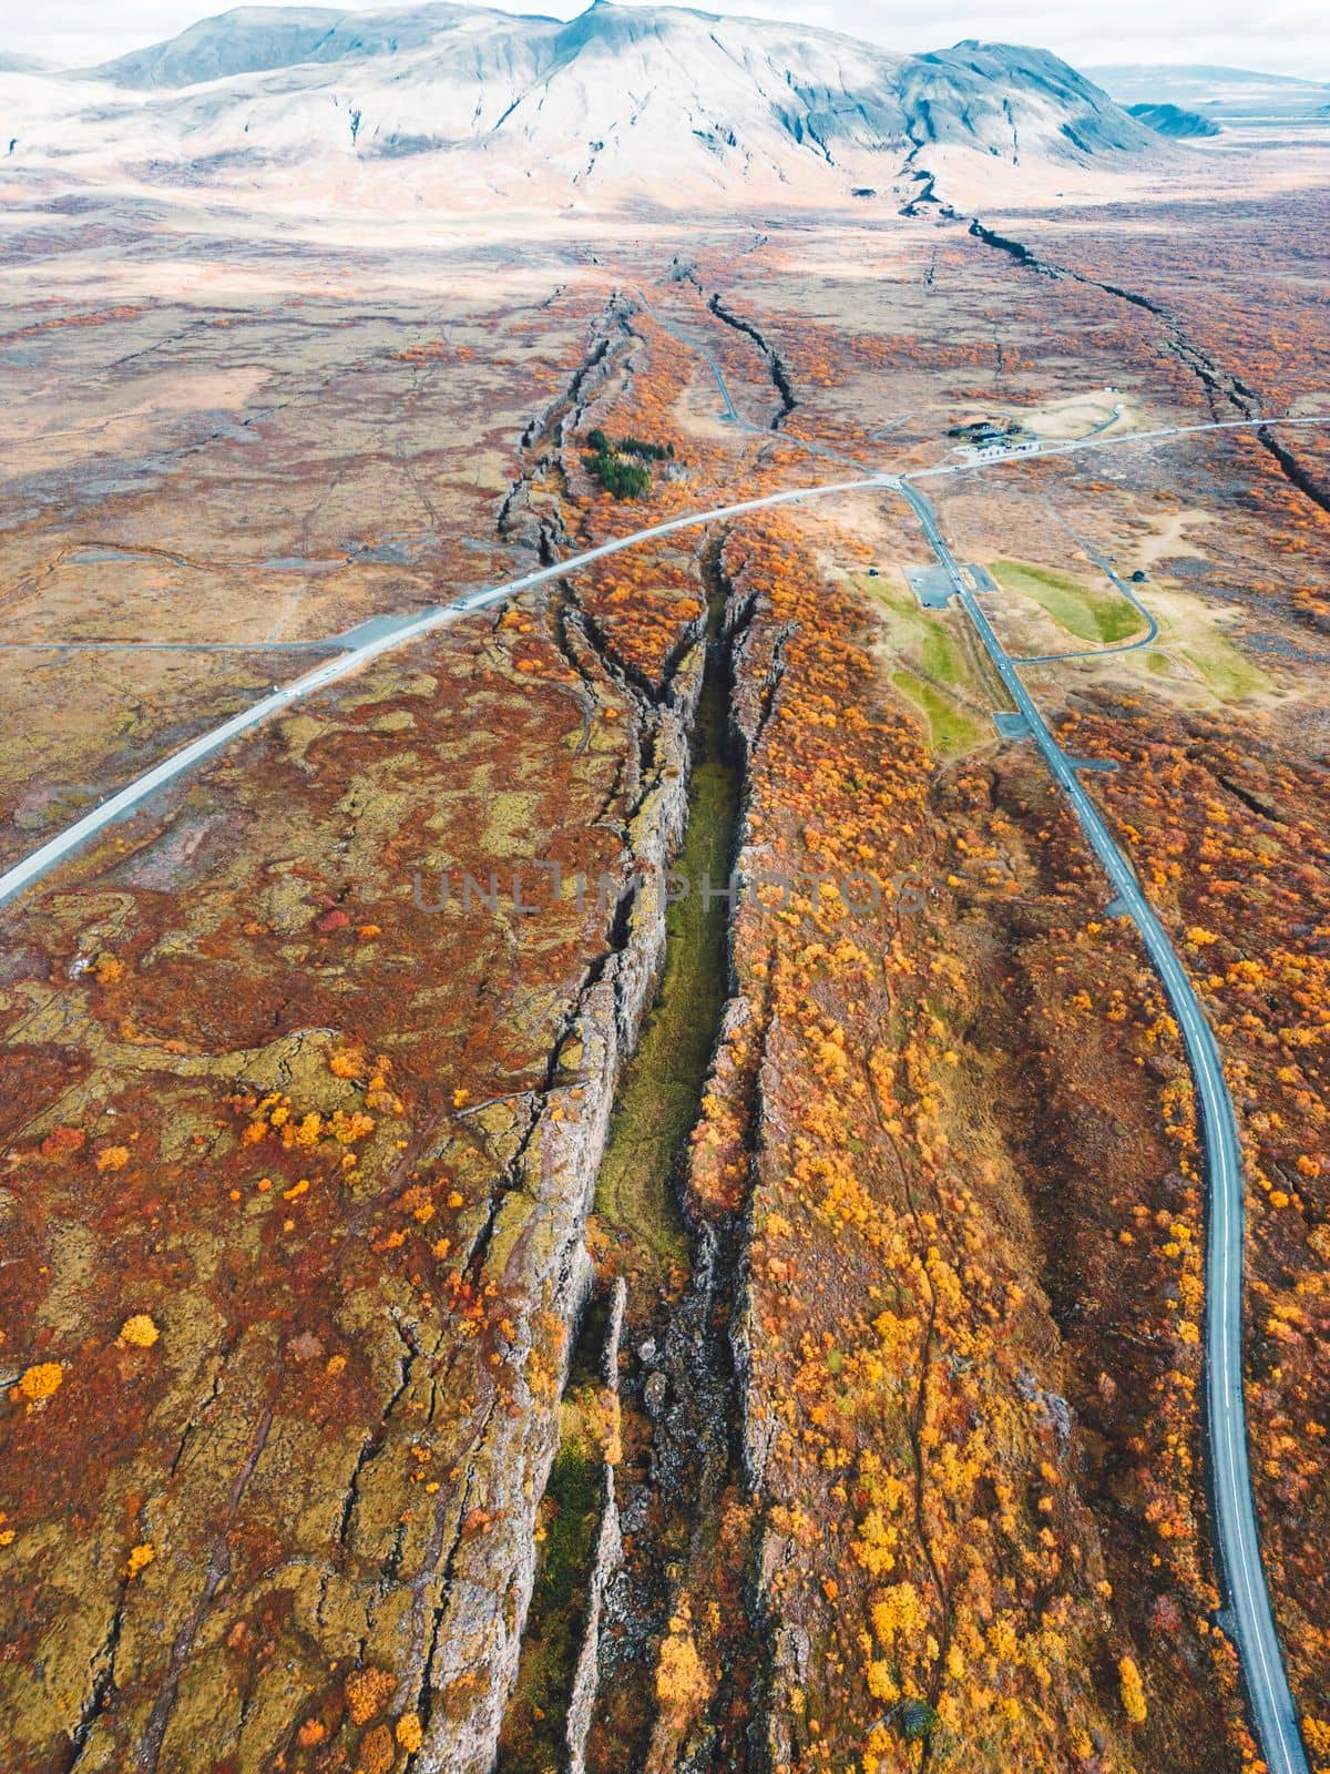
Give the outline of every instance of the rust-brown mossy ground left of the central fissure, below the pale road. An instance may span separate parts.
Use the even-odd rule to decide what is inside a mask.
[[[541,546],[553,518],[523,509]],[[555,589],[367,672],[317,729],[264,731],[239,788],[227,761],[90,855],[53,919],[20,914],[7,1770],[168,1774],[200,1742],[236,1774],[489,1769],[663,951],[658,896],[612,917],[594,883],[674,855],[704,656],[685,624],[667,681],[638,681]],[[273,857],[273,797],[300,804],[300,862]],[[207,892],[163,928],[195,828]],[[562,855],[587,905],[463,914],[461,871],[518,853]]]

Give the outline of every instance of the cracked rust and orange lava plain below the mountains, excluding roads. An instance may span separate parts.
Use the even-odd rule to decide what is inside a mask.
[[[692,227],[14,184],[0,867],[374,619],[1107,415],[926,484],[1220,1043],[1328,1769],[1330,436],[1124,442],[1330,406],[1291,169]],[[1193,1079],[936,571],[887,484],[647,539],[0,910],[4,1774],[1264,1765]]]

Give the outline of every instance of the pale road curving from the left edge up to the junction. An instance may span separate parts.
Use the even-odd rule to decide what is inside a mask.
[[[223,720],[222,726],[211,727],[202,733],[197,740],[192,740],[181,750],[172,752],[170,757],[163,757],[160,765],[145,770],[144,775],[135,777],[119,793],[103,800],[90,812],[85,812],[82,820],[76,820],[64,832],[59,832],[32,855],[16,862],[11,869],[0,875],[0,905],[11,899],[16,892],[30,887],[35,880],[41,880],[57,862],[64,862],[71,857],[82,844],[98,832],[103,832],[115,820],[124,820],[137,807],[140,807],[151,795],[176,777],[192,770],[204,757],[213,752],[222,750],[222,747],[234,740],[238,734],[246,733],[250,727],[257,727],[261,722],[268,720],[271,715],[282,713],[282,710],[291,708],[293,703],[300,703],[316,690],[326,688],[330,683],[337,683],[340,678],[349,678],[351,672],[369,665],[371,660],[379,658],[395,648],[404,646],[408,640],[415,640],[420,635],[433,633],[436,628],[445,628],[449,623],[456,623],[463,616],[470,616],[475,610],[484,610],[489,605],[504,603],[507,598],[518,596],[518,593],[530,591],[532,585],[543,585],[552,578],[562,578],[566,573],[575,573],[578,568],[591,566],[592,561],[603,561],[606,555],[621,553],[624,548],[637,548],[640,543],[653,541],[658,536],[672,536],[676,530],[699,529],[708,523],[715,523],[720,518],[738,518],[747,511],[768,511],[773,506],[789,506],[809,498],[830,498],[839,493],[862,491],[865,488],[885,486],[881,475],[865,475],[855,481],[832,481],[825,486],[800,486],[791,488],[784,493],[768,493],[764,498],[745,498],[734,506],[715,506],[711,511],[693,511],[683,518],[670,518],[667,523],[653,523],[644,530],[633,530],[631,536],[621,536],[615,541],[601,543],[599,548],[589,548],[585,553],[569,555],[567,561],[560,561],[557,566],[537,568],[534,573],[523,573],[521,578],[505,580],[502,585],[488,585],[482,591],[472,591],[465,598],[458,598],[456,603],[447,603],[436,610],[426,610],[422,616],[406,617],[399,623],[388,623],[381,633],[362,642],[356,648],[340,653],[337,658],[328,660],[325,665],[317,665],[314,671],[305,672],[300,678],[293,678],[291,683],[275,690],[271,695],[264,695],[259,703],[250,708],[243,708],[238,715]]]

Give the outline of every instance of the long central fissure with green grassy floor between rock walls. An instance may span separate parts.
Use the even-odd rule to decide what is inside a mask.
[[[729,883],[743,775],[731,718],[732,674],[752,608],[727,607],[718,548],[708,550],[702,571],[706,662],[690,727],[688,820],[674,860],[688,894],[667,908],[660,983],[615,1091],[592,1221],[601,1276],[614,1272],[628,1281],[624,1338],[633,1359],[624,1378],[628,1425],[617,1494],[633,1550],[605,1584],[608,1630],[598,1639],[598,1692],[582,1696],[583,1707],[594,1701],[591,1769],[637,1765],[647,1751],[654,1703],[645,1676],[677,1602],[667,1570],[695,1556],[697,1536],[713,1533],[724,1488],[741,1483],[729,1322],[741,1217],[715,1224],[693,1213],[686,1173],[688,1137],[731,995]],[[663,694],[670,697],[672,685]],[[587,1629],[603,1513],[615,1490],[612,1474],[598,1501],[603,1449],[589,1446],[587,1437],[587,1377],[603,1341],[603,1313],[601,1290],[582,1320],[569,1364],[560,1451],[543,1504],[536,1595],[500,1746],[502,1774],[567,1765],[575,1664]],[[738,1593],[741,1574],[734,1588]],[[745,1671],[741,1692],[750,1685],[752,1673]],[[713,1715],[736,1712],[732,1687],[722,1682]],[[704,1735],[720,1756],[715,1765],[743,1765],[725,1730],[704,1726]]]

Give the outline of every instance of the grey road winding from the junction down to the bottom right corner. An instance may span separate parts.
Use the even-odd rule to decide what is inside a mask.
[[[1027,458],[1029,459],[1029,458]],[[1177,960],[1169,933],[1151,910],[1131,866],[1082,788],[1071,759],[1048,729],[1037,704],[1020,679],[988,616],[965,582],[927,498],[908,481],[901,493],[924,527],[929,546],[947,568],[965,614],[988,649],[1007,694],[1020,710],[1048,770],[1071,802],[1080,828],[1115,889],[1110,910],[1137,924],[1146,953],[1163,983],[1201,1105],[1201,1137],[1206,1153],[1206,1432],[1209,1437],[1209,1485],[1215,1501],[1215,1535],[1229,1607],[1224,1625],[1241,1657],[1247,1696],[1261,1754],[1271,1774],[1309,1774],[1298,1731],[1298,1714],[1284,1671],[1284,1655],[1270,1607],[1261,1543],[1256,1527],[1252,1478],[1247,1464],[1247,1414],[1243,1401],[1243,1167],[1238,1121],[1224,1082],[1218,1045],[1201,1009],[1192,981]]]

